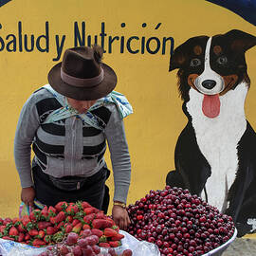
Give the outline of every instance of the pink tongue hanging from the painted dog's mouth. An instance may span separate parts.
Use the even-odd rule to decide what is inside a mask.
[[[205,116],[214,119],[220,114],[220,99],[219,95],[204,95],[202,110]]]

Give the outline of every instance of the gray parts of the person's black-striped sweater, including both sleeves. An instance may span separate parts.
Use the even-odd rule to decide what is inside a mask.
[[[56,145],[64,147],[63,158],[57,157],[52,153],[43,152],[43,155],[46,155],[46,163],[44,164],[40,162],[37,155],[34,157],[36,162],[40,162],[41,166],[45,166],[43,172],[56,177],[64,175],[89,176],[99,172],[105,164],[104,158],[102,157],[101,161],[95,161],[92,164],[92,160],[84,157],[84,148],[92,148],[92,146],[99,143],[102,144],[102,141],[106,140],[110,150],[114,174],[114,200],[126,203],[131,178],[131,162],[123,121],[119,117],[116,105],[104,106],[111,115],[104,131],[99,135],[84,137],[82,129],[85,129],[86,127],[84,128],[84,126],[87,124],[82,123],[82,119],[70,117],[65,119],[63,123],[54,124],[57,128],[60,125],[60,130],[64,128],[65,133],[62,137],[60,135],[49,135],[45,132],[45,128],[45,130],[42,129],[44,126],[42,124],[42,117],[50,113],[47,109],[43,113],[44,115],[42,115],[42,108],[46,108],[48,101],[52,102],[54,99],[52,99],[52,95],[46,89],[36,91],[26,101],[18,120],[14,139],[14,159],[20,176],[21,186],[23,188],[33,186],[30,154],[31,144],[36,144],[37,139],[52,145],[53,149]],[[61,126],[62,124],[63,127]]]

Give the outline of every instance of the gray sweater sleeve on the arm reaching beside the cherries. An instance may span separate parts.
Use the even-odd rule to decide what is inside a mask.
[[[124,132],[123,120],[115,105],[105,135],[110,150],[113,174],[114,174],[114,201],[126,203],[131,180],[131,160]]]

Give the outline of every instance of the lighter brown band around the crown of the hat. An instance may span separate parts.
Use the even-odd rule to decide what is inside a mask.
[[[77,86],[77,87],[93,87],[103,81],[104,70],[101,68],[101,73],[97,77],[89,78],[89,79],[82,79],[82,78],[72,77],[72,76],[66,74],[64,72],[63,68],[61,68],[61,78],[62,78],[63,82]]]

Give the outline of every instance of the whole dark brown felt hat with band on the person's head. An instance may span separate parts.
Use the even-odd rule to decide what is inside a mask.
[[[101,46],[68,48],[63,62],[48,73],[48,82],[60,94],[79,101],[100,99],[113,91],[117,75],[101,63]]]

